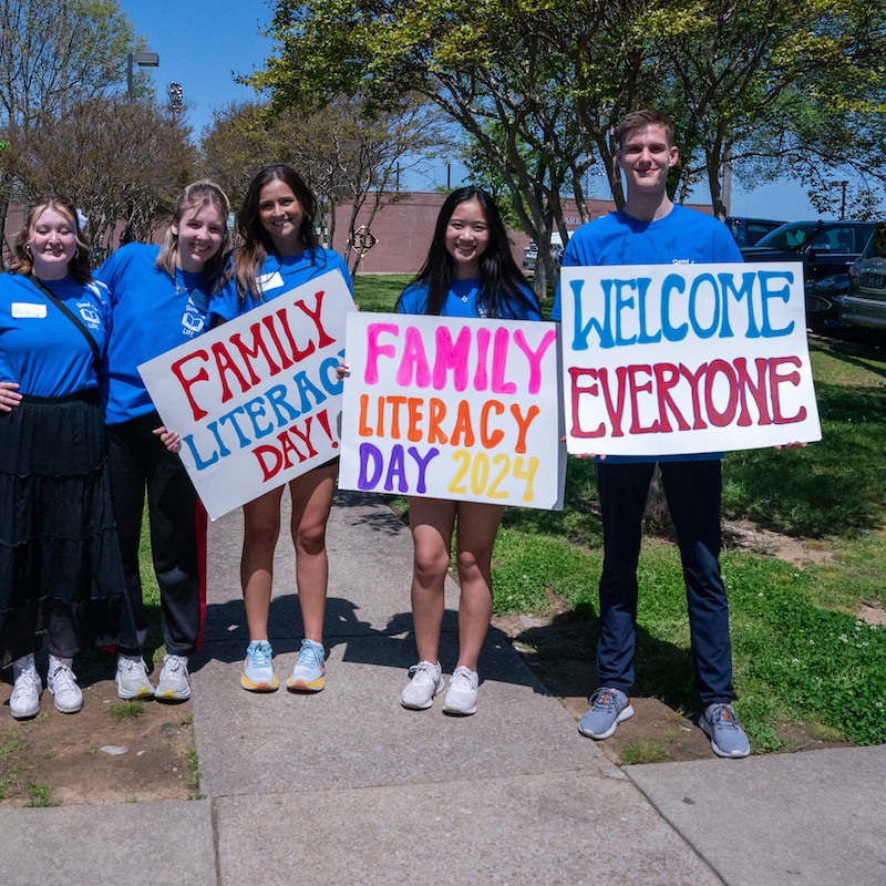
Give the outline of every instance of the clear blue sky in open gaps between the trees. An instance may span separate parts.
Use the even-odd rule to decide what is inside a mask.
[[[254,90],[234,78],[262,68],[271,53],[271,41],[260,33],[272,14],[266,0],[121,0],[121,8],[147,41],[147,49],[159,55],[159,68],[152,71],[158,94],[165,95],[171,81],[182,84],[195,136],[209,123],[213,109],[256,97]],[[453,187],[461,184],[461,174],[462,167],[454,165]],[[445,164],[430,171],[430,177],[406,184],[423,189],[445,185]],[[710,200],[707,188],[698,199]],[[732,215],[785,220],[816,217],[802,188],[791,182],[751,192],[734,187]]]

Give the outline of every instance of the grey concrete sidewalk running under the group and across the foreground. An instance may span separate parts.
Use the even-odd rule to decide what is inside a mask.
[[[411,539],[371,496],[341,493],[330,522],[326,690],[245,692],[240,542],[239,514],[210,527],[192,662],[207,799],[2,810],[0,884],[886,883],[886,748],[618,769],[496,631],[474,717],[445,717],[442,697],[403,710]],[[292,560],[281,538],[281,682],[302,636]]]

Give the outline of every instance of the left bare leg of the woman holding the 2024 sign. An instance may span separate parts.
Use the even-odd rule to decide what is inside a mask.
[[[410,498],[409,523],[414,545],[412,624],[419,660],[437,663],[445,607],[443,586],[450,567],[455,502]]]

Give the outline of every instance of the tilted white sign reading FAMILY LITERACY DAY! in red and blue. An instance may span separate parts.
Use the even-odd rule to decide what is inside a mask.
[[[352,310],[330,271],[138,367],[213,519],[338,455]]]

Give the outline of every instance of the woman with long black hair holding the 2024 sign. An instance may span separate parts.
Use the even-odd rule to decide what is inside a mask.
[[[485,190],[463,187],[449,195],[427,258],[400,296],[396,309],[441,317],[540,319],[535,296],[511,254],[502,217]],[[437,650],[454,533],[461,586],[459,660],[443,711],[463,715],[476,711],[477,659],[492,617],[492,552],[503,514],[501,505],[409,499],[414,543],[412,618],[419,663],[410,669],[411,680],[400,697],[404,708],[430,708],[443,687]]]

